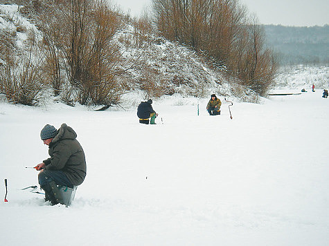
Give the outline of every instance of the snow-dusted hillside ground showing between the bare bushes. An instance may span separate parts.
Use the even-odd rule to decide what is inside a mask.
[[[10,37],[11,55],[21,57],[30,40],[29,36],[35,33],[38,34],[37,37],[42,35],[28,19],[21,16],[19,6],[0,5],[0,18],[0,33],[3,37]],[[136,34],[139,30],[134,28],[132,20],[123,22],[125,24],[112,41],[114,46],[120,47],[121,53],[121,62],[117,63],[116,69],[125,71],[118,78],[120,84],[123,84],[123,94],[137,93],[141,99],[148,99],[175,93],[184,97],[208,97],[210,93],[217,93],[233,97],[240,102],[259,101],[256,93],[238,84],[238,79],[224,75],[225,68],[215,70],[188,47],[155,37],[154,34],[144,34],[145,40],[137,40],[141,39],[141,35]],[[43,63],[41,54],[40,50],[33,49],[32,55],[37,64]],[[0,52],[0,57],[6,55]],[[27,57],[30,57],[29,54]],[[4,59],[2,64],[6,63]],[[64,71],[62,73],[66,74]],[[39,93],[35,103],[48,103],[49,91],[51,90],[44,89]],[[62,94],[65,97],[69,93],[63,90]],[[121,99],[125,98],[126,96],[123,96]],[[59,96],[55,100],[62,100],[62,97]]]

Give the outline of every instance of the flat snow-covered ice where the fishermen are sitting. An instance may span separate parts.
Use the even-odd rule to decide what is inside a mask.
[[[262,104],[154,100],[89,111],[0,104],[1,245],[329,245],[329,99],[322,90]],[[163,124],[161,124],[161,117]],[[87,178],[71,207],[50,206],[34,167],[48,158],[45,124],[78,133]]]

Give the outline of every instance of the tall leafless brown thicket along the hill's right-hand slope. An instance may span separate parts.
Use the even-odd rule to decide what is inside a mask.
[[[161,35],[202,50],[242,84],[264,95],[276,73],[256,17],[237,0],[152,0]]]

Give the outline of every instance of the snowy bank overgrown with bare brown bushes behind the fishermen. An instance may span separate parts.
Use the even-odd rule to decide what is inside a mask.
[[[134,20],[105,0],[10,3],[24,5],[21,14],[38,29],[15,23],[15,33],[0,33],[0,93],[10,102],[33,105],[49,91],[69,105],[118,104],[121,95],[134,88],[148,97],[181,91],[199,97],[208,93],[206,85],[215,84],[218,92],[225,91],[221,74],[198,65],[205,57],[204,64],[212,61],[214,71],[226,73],[226,82],[240,83],[226,86],[233,94],[233,88],[239,88],[237,96],[244,94],[244,86],[265,95],[273,81],[272,51],[264,48],[256,19],[248,21],[236,0],[153,0],[155,19],[145,14]],[[28,35],[24,48],[15,44],[17,32]],[[197,53],[182,47],[179,51],[175,42],[176,51],[165,54],[163,37]]]

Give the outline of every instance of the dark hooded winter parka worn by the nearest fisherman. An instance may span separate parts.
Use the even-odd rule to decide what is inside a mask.
[[[81,185],[86,177],[87,166],[85,153],[76,137],[77,134],[70,126],[60,126],[49,144],[48,153],[51,158],[44,160],[44,170],[63,171],[72,185]]]

